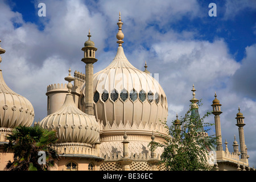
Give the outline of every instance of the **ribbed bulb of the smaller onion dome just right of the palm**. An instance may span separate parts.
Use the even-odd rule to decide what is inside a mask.
[[[100,125],[93,115],[77,108],[72,94],[67,94],[61,108],[47,115],[40,124],[44,129],[56,130],[59,142],[94,144],[100,137]]]

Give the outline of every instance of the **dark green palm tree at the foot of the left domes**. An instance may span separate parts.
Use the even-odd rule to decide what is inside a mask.
[[[4,151],[14,152],[14,160],[9,160],[6,170],[43,171],[59,160],[59,155],[52,148],[57,142],[56,131],[48,131],[40,126],[18,126],[6,139],[9,143],[4,145]],[[39,151],[46,153],[46,164],[38,163]]]

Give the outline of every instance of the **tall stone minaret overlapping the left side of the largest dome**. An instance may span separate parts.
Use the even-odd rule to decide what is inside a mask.
[[[85,65],[85,113],[94,115],[93,110],[93,63],[97,62],[95,52],[97,48],[94,47],[94,42],[90,40],[90,30],[88,40],[84,43],[82,51],[84,51],[84,58],[81,60]]]

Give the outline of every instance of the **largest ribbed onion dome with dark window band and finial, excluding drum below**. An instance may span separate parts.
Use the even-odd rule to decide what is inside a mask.
[[[126,58],[122,43],[121,18],[119,16],[117,43],[119,47],[112,63],[93,76],[94,115],[103,124],[134,122],[139,125],[155,125],[159,119],[167,119],[166,94],[159,82],[150,74],[135,68]],[[156,75],[156,74],[155,74]],[[80,107],[84,105],[85,84],[81,87]],[[82,110],[84,110],[82,106]]]

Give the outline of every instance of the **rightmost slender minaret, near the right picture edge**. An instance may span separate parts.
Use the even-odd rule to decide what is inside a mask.
[[[237,126],[239,131],[239,140],[240,140],[240,151],[241,151],[241,159],[247,159],[246,149],[245,149],[245,134],[243,133],[243,126],[245,126],[245,123],[243,122],[243,114],[240,113],[240,107],[238,107],[238,113],[237,113]]]

